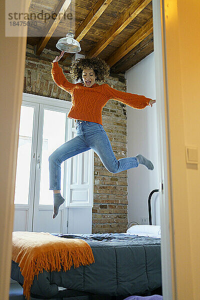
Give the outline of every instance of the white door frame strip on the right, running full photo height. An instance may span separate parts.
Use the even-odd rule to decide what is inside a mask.
[[[169,201],[170,194],[168,184],[168,114],[165,105],[166,94],[164,89],[164,63],[163,63],[163,24],[161,24],[160,0],[152,0],[153,6],[153,45],[155,53],[155,85],[156,85],[156,111],[157,111],[157,132],[158,132],[158,159],[159,159],[159,199],[160,199],[160,225],[161,225],[161,270],[162,270],[162,292],[164,300],[172,300],[172,244],[169,231]],[[172,228],[170,228],[172,230]]]

